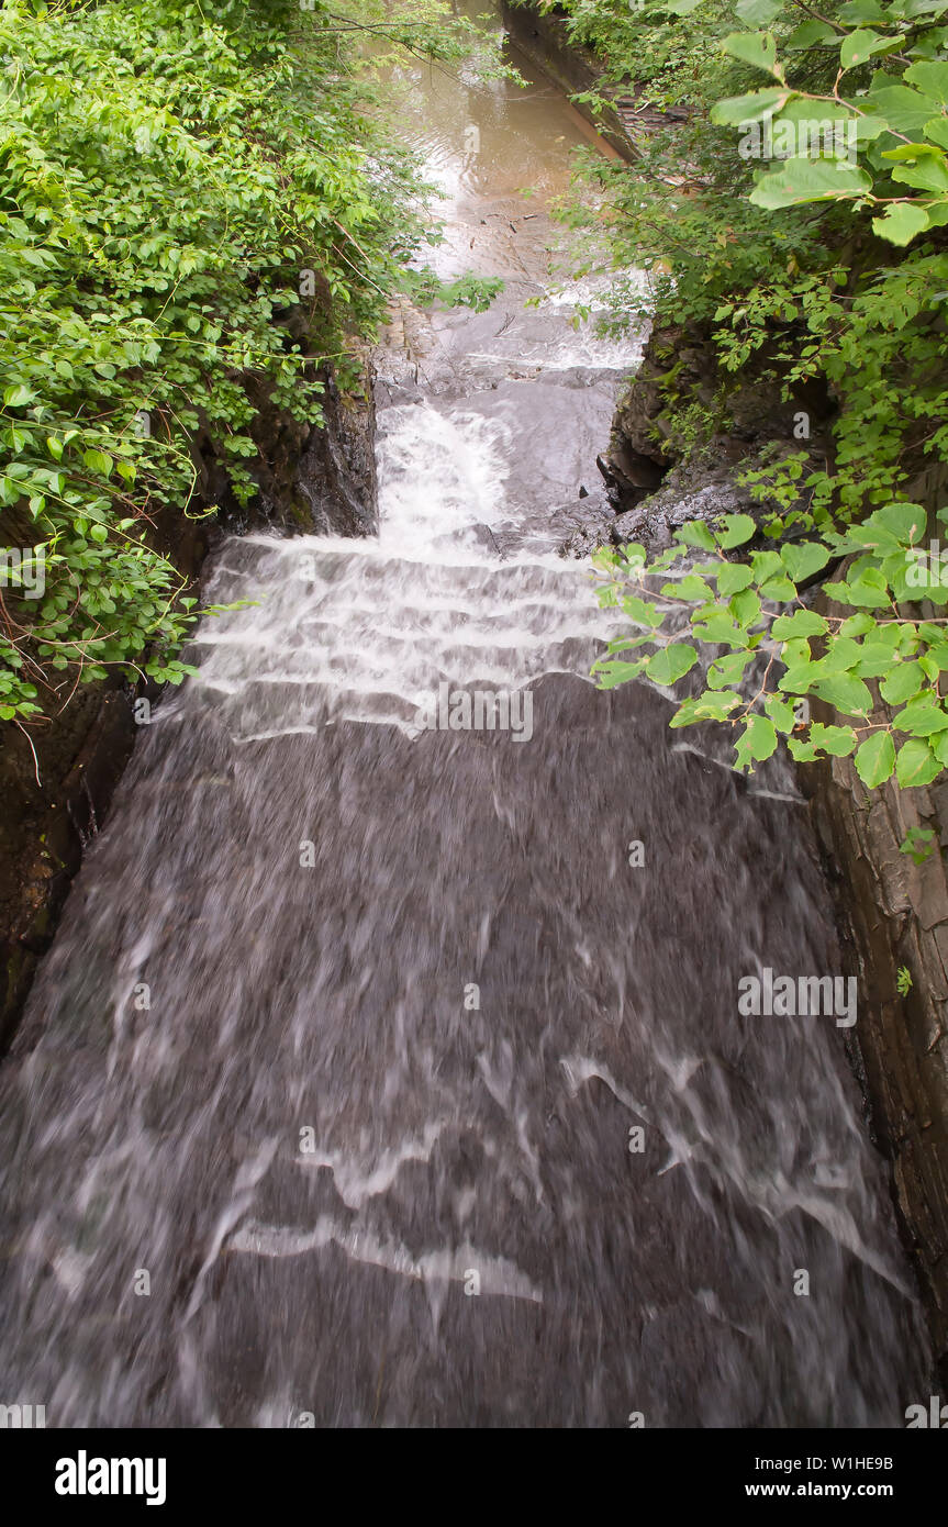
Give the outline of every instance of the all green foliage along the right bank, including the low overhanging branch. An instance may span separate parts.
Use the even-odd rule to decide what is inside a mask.
[[[615,264],[652,273],[638,304],[617,282],[611,327],[650,305],[717,357],[710,403],[678,391],[670,356],[667,444],[693,455],[696,408],[705,438],[708,408],[727,431],[748,374],[786,405],[805,388],[837,405],[820,455],[775,441],[745,470],[754,516],[685,525],[658,557],[597,559],[600,599],[638,628],[600,683],[669,687],[664,654],[685,673],[687,652],[672,725],[730,727],[736,768],[785,742],[800,760],[852,756],[869,788],[925,785],[948,767],[948,589],[916,576],[928,527],[907,499],[948,463],[948,0],[565,8],[609,84],[688,108],[637,139],[632,169],[583,169],[611,206]],[[568,215],[582,221],[582,202]],[[812,608],[821,585],[835,614]],[[811,719],[811,701],[838,724]]]

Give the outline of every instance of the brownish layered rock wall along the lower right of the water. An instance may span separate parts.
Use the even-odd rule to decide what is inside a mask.
[[[827,718],[830,719],[830,718]],[[866,791],[852,759],[800,770],[838,922],[859,965],[858,1069],[948,1380],[948,878],[901,852],[910,828],[948,846],[948,785]],[[899,970],[913,985],[899,989]]]

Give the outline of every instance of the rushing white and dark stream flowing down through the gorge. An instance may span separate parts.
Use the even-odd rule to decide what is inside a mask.
[[[737,1014],[766,967],[852,974],[792,782],[588,678],[615,617],[550,512],[635,344],[553,290],[588,133],[531,79],[418,72],[443,269],[507,290],[395,316],[377,541],[221,547],[209,597],[253,603],[142,728],[0,1067],[0,1370],[49,1426],[895,1426],[928,1394],[844,1031]],[[423,725],[475,692],[505,728]]]

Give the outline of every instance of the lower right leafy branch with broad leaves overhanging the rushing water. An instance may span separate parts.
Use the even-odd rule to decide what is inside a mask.
[[[939,693],[948,667],[945,617],[917,620],[901,608],[914,596],[911,548],[924,528],[916,505],[890,504],[843,534],[786,541],[734,562],[727,553],[751,542],[756,525],[748,515],[725,515],[714,525],[682,525],[678,545],[650,562],[637,545],[601,551],[600,602],[618,605],[643,634],[612,644],[597,663],[600,683],[609,689],[644,675],[669,686],[695,667],[701,644],[725,647],[707,670],[705,690],[679,705],[672,727],[722,721],[740,728],[736,768],[751,773],[782,736],[801,762],[855,754],[870,788],[893,774],[901,785],[927,785],[948,765],[948,710]],[[832,557],[849,556],[832,594],[852,614],[811,609],[800,585]],[[939,594],[948,603],[948,589]],[[685,623],[692,641],[681,641]],[[612,657],[630,647],[653,651],[634,661]],[[892,721],[873,719],[869,681],[881,681]],[[846,724],[800,719],[800,699],[826,701]]]

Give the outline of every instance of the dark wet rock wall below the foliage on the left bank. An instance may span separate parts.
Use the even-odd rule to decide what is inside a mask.
[[[224,463],[206,437],[192,441],[197,515],[165,510],[154,545],[191,591],[209,548],[227,530],[272,525],[287,534],[359,536],[377,525],[374,405],[368,362],[362,394],[342,395],[325,374],[324,425],[301,425],[260,397],[250,463],[260,493],[238,508]],[[188,589],[185,589],[188,592]],[[75,675],[67,675],[72,684]],[[0,722],[0,1054],[23,1012],[89,840],[101,829],[136,741],[134,701],[159,692],[121,678],[79,686],[49,704],[26,736]],[[32,747],[31,747],[32,744]],[[34,757],[35,750],[35,757]]]

